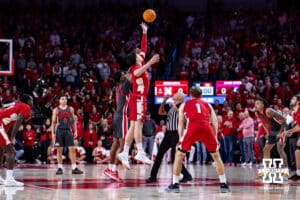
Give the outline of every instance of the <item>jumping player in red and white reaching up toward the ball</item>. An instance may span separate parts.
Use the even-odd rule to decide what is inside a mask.
[[[153,162],[149,160],[142,145],[142,127],[145,114],[147,112],[147,95],[149,91],[149,75],[147,69],[159,62],[159,55],[154,55],[146,64],[144,64],[144,59],[147,50],[147,30],[148,27],[145,23],[141,24],[143,30],[143,36],[141,41],[141,50],[134,50],[131,52],[127,61],[130,64],[129,74],[131,76],[132,82],[132,93],[129,98],[129,120],[130,127],[128,133],[125,137],[125,145],[122,153],[118,154],[119,160],[122,164],[130,169],[128,162],[128,153],[133,137],[137,144],[138,153],[135,156],[136,160],[142,163],[152,164]]]

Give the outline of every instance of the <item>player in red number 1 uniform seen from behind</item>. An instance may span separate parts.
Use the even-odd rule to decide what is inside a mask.
[[[220,179],[221,192],[230,192],[226,182],[224,164],[218,150],[218,119],[212,106],[203,101],[201,95],[201,89],[193,86],[190,89],[191,100],[181,104],[179,107],[178,134],[181,139],[173,165],[173,184],[166,189],[167,192],[179,192],[181,163],[186,152],[197,141],[202,142],[206,146],[207,151],[210,152],[215,161],[216,171]],[[187,125],[186,133],[183,135],[185,119]]]

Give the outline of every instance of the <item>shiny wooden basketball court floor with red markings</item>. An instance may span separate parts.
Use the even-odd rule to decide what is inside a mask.
[[[21,188],[0,186],[0,199],[300,199],[300,182],[263,184],[256,177],[257,168],[228,167],[227,179],[231,193],[222,194],[219,179],[212,165],[188,165],[192,182],[182,184],[180,193],[166,193],[171,183],[172,165],[163,164],[158,182],[147,184],[150,167],[133,165],[131,170],[119,166],[123,182],[108,179],[106,165],[80,165],[83,175],[72,175],[71,166],[64,165],[64,174],[55,175],[56,165],[19,165],[15,178],[25,183]]]

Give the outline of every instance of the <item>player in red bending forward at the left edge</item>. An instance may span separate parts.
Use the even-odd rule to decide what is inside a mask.
[[[22,182],[16,181],[13,177],[15,163],[15,149],[13,143],[23,120],[30,118],[30,107],[32,104],[32,97],[23,94],[19,102],[12,102],[0,111],[0,163],[3,163],[4,154],[6,154],[8,163],[6,180],[0,177],[0,184],[4,184],[5,186],[18,187],[24,185]],[[12,128],[12,131],[9,136],[8,130],[10,128]]]

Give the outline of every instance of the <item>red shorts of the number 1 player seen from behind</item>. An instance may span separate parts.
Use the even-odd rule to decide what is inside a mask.
[[[203,122],[190,122],[179,148],[182,151],[189,151],[195,142],[202,142],[207,151],[214,153],[219,149],[217,138],[210,124]]]

